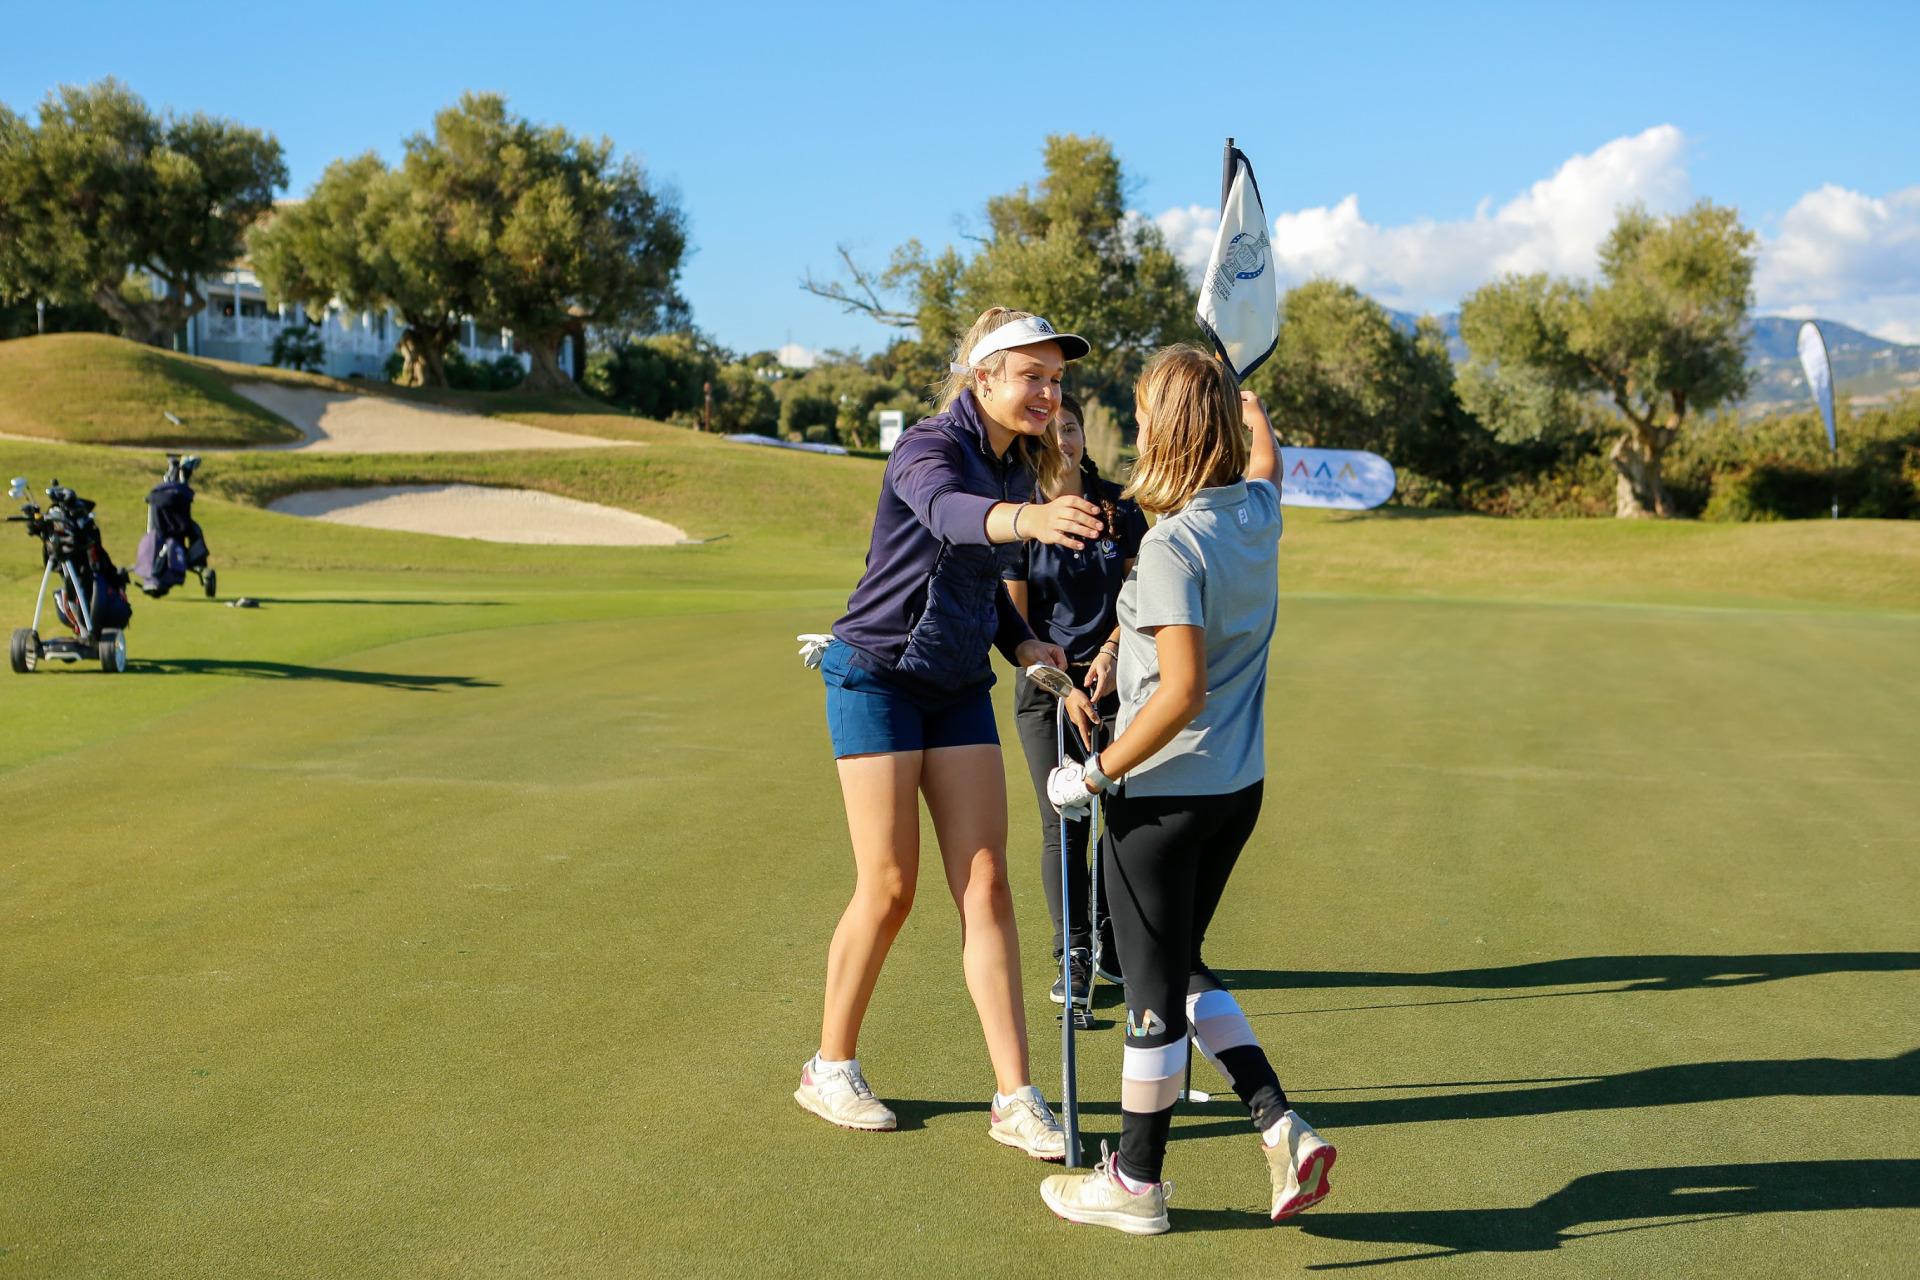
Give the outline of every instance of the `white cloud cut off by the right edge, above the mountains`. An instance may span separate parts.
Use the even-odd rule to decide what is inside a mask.
[[[1878,200],[1832,184],[1807,192],[1761,251],[1753,288],[1764,311],[1920,342],[1920,186]]]

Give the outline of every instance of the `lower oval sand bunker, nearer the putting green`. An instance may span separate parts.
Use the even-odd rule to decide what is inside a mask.
[[[407,484],[315,489],[271,503],[282,516],[307,516],[369,530],[478,537],[490,543],[566,547],[670,547],[685,533],[664,520],[534,489],[474,484]]]

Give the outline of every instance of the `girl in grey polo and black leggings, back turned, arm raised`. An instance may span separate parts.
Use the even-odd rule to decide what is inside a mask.
[[[1334,1150],[1288,1107],[1246,1015],[1200,960],[1267,773],[1279,449],[1260,399],[1196,347],[1148,363],[1135,413],[1127,495],[1160,524],[1119,593],[1119,737],[1048,779],[1062,816],[1125,779],[1108,804],[1108,902],[1127,977],[1119,1153],[1046,1178],[1041,1197],[1064,1219],[1146,1236],[1167,1230],[1160,1167],[1188,1029],[1261,1134],[1275,1221],[1327,1196]]]

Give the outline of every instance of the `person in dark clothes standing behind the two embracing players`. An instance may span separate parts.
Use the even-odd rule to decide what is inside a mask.
[[[1018,543],[1002,574],[1008,595],[1025,616],[1027,626],[1033,628],[1033,635],[1066,651],[1068,672],[1098,706],[1102,729],[1094,743],[1087,743],[1087,748],[1092,750],[1112,737],[1114,716],[1119,710],[1119,699],[1114,693],[1114,658],[1119,651],[1114,603],[1119,599],[1119,587],[1127,581],[1133,558],[1140,551],[1146,516],[1131,499],[1119,495],[1117,484],[1100,476],[1100,468],[1087,455],[1085,416],[1079,401],[1071,395],[1060,399],[1054,430],[1060,436],[1060,451],[1066,455],[1068,466],[1056,482],[1056,491],[1035,493],[1035,501],[1073,493],[1096,503],[1102,512],[1102,537],[1089,541],[1079,551]],[[1046,885],[1046,910],[1054,917],[1054,960],[1060,960],[1064,948],[1073,950],[1068,961],[1073,971],[1073,1000],[1075,1004],[1091,1004],[1094,960],[1098,958],[1100,977],[1108,983],[1119,983],[1119,956],[1114,948],[1112,927],[1104,927],[1102,936],[1094,938],[1087,917],[1089,821],[1085,816],[1068,821],[1069,848],[1079,856],[1071,858],[1068,869],[1073,915],[1066,919],[1060,900],[1060,814],[1046,798],[1046,773],[1060,764],[1054,760],[1054,697],[1027,679],[1025,672],[1014,679],[1014,720],[1020,729],[1020,745],[1027,754],[1027,771],[1033,775],[1033,791],[1041,798],[1041,881]],[[1073,735],[1069,735],[1069,750],[1075,748],[1071,739]],[[1104,906],[1100,919],[1106,919]],[[1062,979],[1054,979],[1050,994],[1054,1004],[1066,1004]]]

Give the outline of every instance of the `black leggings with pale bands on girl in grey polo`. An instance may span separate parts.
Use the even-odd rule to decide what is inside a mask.
[[[1187,1044],[1187,998],[1223,990],[1200,960],[1200,944],[1227,890],[1240,848],[1254,835],[1265,783],[1223,796],[1114,796],[1108,804],[1112,879],[1108,904],[1127,973],[1129,1050]],[[1169,1050],[1175,1052],[1175,1050]],[[1144,1054],[1140,1057],[1146,1057]],[[1185,1055],[1179,1055],[1185,1061]],[[1254,1126],[1265,1130],[1286,1113],[1286,1094],[1258,1044],[1219,1054]],[[1171,1069],[1171,1063],[1165,1063]],[[1185,1073],[1185,1069],[1181,1069]],[[1119,1167],[1131,1178],[1160,1180],[1173,1123],[1169,1077],[1121,1079]],[[1127,1096],[1164,1100],[1129,1109]],[[1158,1096],[1156,1096],[1158,1094]]]

